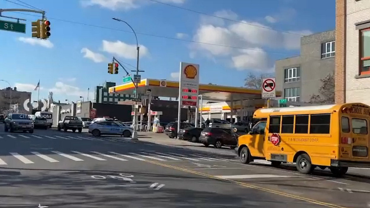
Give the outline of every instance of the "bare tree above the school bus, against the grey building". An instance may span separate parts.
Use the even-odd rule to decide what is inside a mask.
[[[326,75],[325,78],[320,79],[322,86],[319,89],[319,94],[311,95],[309,103],[316,104],[333,104],[334,100],[334,76],[332,73]]]

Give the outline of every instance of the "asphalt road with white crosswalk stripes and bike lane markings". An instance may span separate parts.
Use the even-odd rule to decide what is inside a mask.
[[[217,151],[0,124],[0,207],[370,207],[367,169],[301,175]]]

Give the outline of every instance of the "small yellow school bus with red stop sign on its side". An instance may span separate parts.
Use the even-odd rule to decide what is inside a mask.
[[[348,167],[370,167],[370,106],[362,103],[304,107],[262,108],[259,121],[238,139],[236,153],[242,163],[254,159],[273,166],[295,162],[303,174],[329,168],[334,175]]]

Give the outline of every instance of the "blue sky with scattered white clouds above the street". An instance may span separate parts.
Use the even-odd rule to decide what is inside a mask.
[[[54,100],[61,101],[86,100],[87,88],[92,100],[94,87],[104,81],[121,84],[122,69],[118,75],[107,73],[112,56],[136,66],[135,36],[112,17],[127,21],[138,33],[142,78],[177,80],[179,62],[185,61],[200,65],[201,83],[231,86],[243,86],[250,71],[272,72],[275,60],[299,54],[298,34],[335,27],[334,0],[155,0],[234,21],[152,0],[22,1],[47,12],[51,36],[46,41],[31,38],[31,21],[40,15],[4,12],[27,19],[27,31],[0,30],[0,79],[26,91],[40,79],[40,98],[53,91]],[[5,0],[0,8],[27,9]],[[0,82],[1,88],[6,86]],[[37,99],[37,91],[32,97]]]

